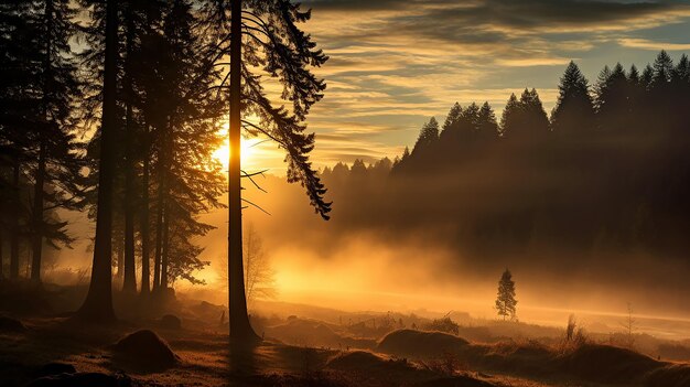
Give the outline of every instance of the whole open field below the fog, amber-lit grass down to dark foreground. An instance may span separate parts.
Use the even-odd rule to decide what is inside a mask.
[[[623,333],[575,330],[569,340],[567,322],[557,327],[459,312],[346,312],[259,302],[251,323],[263,342],[242,350],[228,344],[223,305],[181,295],[165,308],[142,311],[139,303],[116,298],[122,319],[97,327],[65,312],[84,291],[52,288],[18,293],[3,288],[2,308],[13,311],[0,319],[3,386],[680,387],[690,383],[686,363],[690,343],[642,333],[628,343]],[[9,301],[9,295],[26,302]],[[628,344],[633,347],[626,348]]]

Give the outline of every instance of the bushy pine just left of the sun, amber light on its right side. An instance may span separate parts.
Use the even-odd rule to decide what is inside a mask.
[[[192,240],[214,227],[198,222],[198,215],[223,206],[217,197],[225,192],[222,166],[212,157],[222,143],[224,100],[212,87],[219,73],[197,60],[207,47],[193,29],[198,20],[191,2],[171,1],[162,11],[158,80],[144,85],[150,99],[144,116],[157,128],[154,291],[180,278],[201,282],[193,273],[208,262],[200,259],[203,249]],[[166,114],[157,117],[148,109]]]

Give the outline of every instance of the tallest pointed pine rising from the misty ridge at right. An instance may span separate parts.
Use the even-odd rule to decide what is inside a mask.
[[[551,115],[558,135],[572,136],[594,128],[594,107],[590,86],[574,62],[570,62],[559,85],[559,97]]]

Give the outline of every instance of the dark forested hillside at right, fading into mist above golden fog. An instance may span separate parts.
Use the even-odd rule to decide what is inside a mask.
[[[661,51],[642,72],[606,66],[593,85],[571,62],[550,115],[533,88],[513,94],[499,118],[488,103],[455,104],[395,160],[322,174],[334,190],[366,179],[348,189],[354,214],[451,223],[453,238],[475,252],[547,244],[678,259],[690,229],[688,107],[686,55],[673,63]],[[351,211],[338,215],[359,222]]]

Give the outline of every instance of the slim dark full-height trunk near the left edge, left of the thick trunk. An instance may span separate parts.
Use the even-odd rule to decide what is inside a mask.
[[[39,165],[36,168],[35,186],[33,194],[33,235],[32,235],[32,261],[31,261],[31,280],[41,282],[41,260],[43,255],[43,185],[45,183],[45,158],[46,158],[46,131],[48,129],[47,104],[51,94],[51,32],[53,31],[53,1],[45,1],[45,58],[43,63],[43,116],[44,126],[39,132]]]

